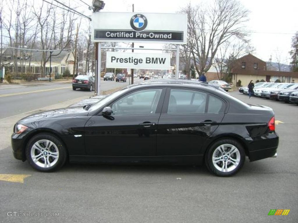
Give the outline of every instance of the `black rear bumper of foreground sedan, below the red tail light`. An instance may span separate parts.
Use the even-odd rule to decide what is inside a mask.
[[[277,133],[268,133],[263,136],[246,138],[248,142],[249,161],[256,161],[275,156],[279,143]]]

